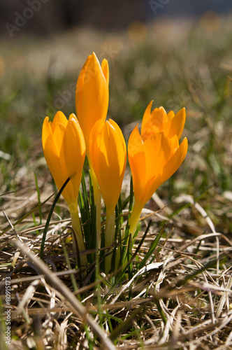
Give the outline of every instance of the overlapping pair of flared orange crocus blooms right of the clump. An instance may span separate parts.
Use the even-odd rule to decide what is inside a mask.
[[[185,120],[184,109],[176,115],[173,112],[167,114],[163,107],[150,113],[151,106],[152,102],[145,111],[141,135],[137,125],[129,137],[128,158],[135,197],[129,219],[131,232],[135,232],[146,202],[177,171],[188,148],[186,138],[179,146]]]

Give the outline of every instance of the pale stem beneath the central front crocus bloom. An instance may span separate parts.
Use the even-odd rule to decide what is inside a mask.
[[[108,211],[106,208],[106,231],[105,231],[105,246],[112,246],[113,241],[115,241],[115,211]],[[105,258],[105,272],[109,273],[112,261],[112,249],[107,251],[110,253]]]

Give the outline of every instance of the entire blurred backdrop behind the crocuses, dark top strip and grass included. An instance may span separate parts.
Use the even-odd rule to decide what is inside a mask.
[[[151,100],[187,109],[187,159],[159,195],[229,196],[231,11],[231,0],[1,0],[1,193],[34,186],[34,170],[50,176],[43,119],[75,112],[76,80],[94,51],[108,59],[108,117],[126,141]]]

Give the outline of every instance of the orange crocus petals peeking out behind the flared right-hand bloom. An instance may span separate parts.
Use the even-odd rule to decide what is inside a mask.
[[[177,135],[177,138],[180,139],[186,118],[185,109],[181,109],[175,114],[173,111],[166,113],[164,107],[159,107],[151,112],[152,102],[147,106],[143,116],[142,139],[145,140],[161,131],[164,131],[169,138]]]

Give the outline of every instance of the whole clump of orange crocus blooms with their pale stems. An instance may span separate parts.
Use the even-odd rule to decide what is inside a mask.
[[[96,206],[96,247],[101,247],[101,197],[106,205],[104,245],[115,240],[115,206],[119,200],[126,169],[126,143],[122,131],[113,120],[107,120],[109,100],[108,62],[99,64],[96,55],[89,55],[76,86],[76,114],[66,119],[57,112],[52,122],[43,122],[42,144],[45,160],[57,188],[60,190],[68,177],[70,181],[62,195],[71,214],[73,232],[80,251],[85,250],[78,214],[78,194],[85,155],[89,162],[94,203]],[[157,188],[182,164],[187,154],[187,139],[179,145],[185,110],[166,113],[163,107],[151,112],[152,102],[145,110],[141,131],[138,125],[131,132],[128,158],[133,178],[134,204],[129,217],[132,235],[140,213]],[[94,247],[92,247],[94,248]],[[81,263],[87,259],[82,255]],[[111,258],[106,258],[106,271]]]

